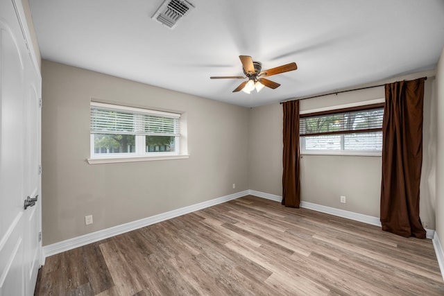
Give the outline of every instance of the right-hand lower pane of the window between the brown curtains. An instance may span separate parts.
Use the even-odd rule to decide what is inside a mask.
[[[381,151],[382,132],[344,134],[344,150]]]

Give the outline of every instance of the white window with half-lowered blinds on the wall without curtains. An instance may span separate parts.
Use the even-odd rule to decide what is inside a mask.
[[[91,102],[91,159],[180,155],[180,116]]]

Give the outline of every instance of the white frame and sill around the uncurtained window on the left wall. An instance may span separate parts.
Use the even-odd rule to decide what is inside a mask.
[[[145,114],[155,114],[160,116],[169,116],[169,117],[175,117],[179,119],[180,124],[180,136],[176,137],[176,148],[178,149],[175,152],[165,152],[165,153],[144,153],[137,154],[137,153],[124,153],[124,154],[112,154],[112,155],[99,155],[94,153],[94,146],[92,143],[94,143],[94,134],[90,134],[89,137],[89,158],[87,158],[88,164],[112,164],[112,163],[121,163],[121,162],[147,162],[147,161],[154,161],[154,160],[169,160],[169,159],[187,159],[189,158],[189,155],[187,154],[187,124],[185,121],[186,116],[185,114],[181,114],[180,112],[163,112],[153,109],[144,109],[139,107],[130,107],[126,105],[117,105],[113,103],[100,103],[96,101],[90,102],[90,108],[91,107],[102,107],[104,109],[111,109],[111,110],[117,110],[117,111],[129,111],[129,112],[138,112],[138,113],[145,113]],[[139,151],[144,151],[145,147],[144,145],[137,141],[136,137],[136,143],[137,149]]]

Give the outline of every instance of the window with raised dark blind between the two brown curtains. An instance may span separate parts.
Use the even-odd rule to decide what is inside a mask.
[[[383,116],[384,104],[301,114],[301,152],[380,154]]]

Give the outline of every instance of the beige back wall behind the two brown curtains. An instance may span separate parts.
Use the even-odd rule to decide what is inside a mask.
[[[424,153],[422,163],[420,216],[434,229],[436,96],[434,71],[385,80],[429,76],[425,84]],[[365,86],[365,85],[363,85]],[[358,88],[358,87],[357,87]],[[384,87],[303,100],[301,111],[384,98]],[[250,114],[250,189],[282,195],[282,107],[256,107]],[[379,217],[381,157],[303,155],[301,159],[302,201]],[[347,198],[341,204],[340,195]]]

